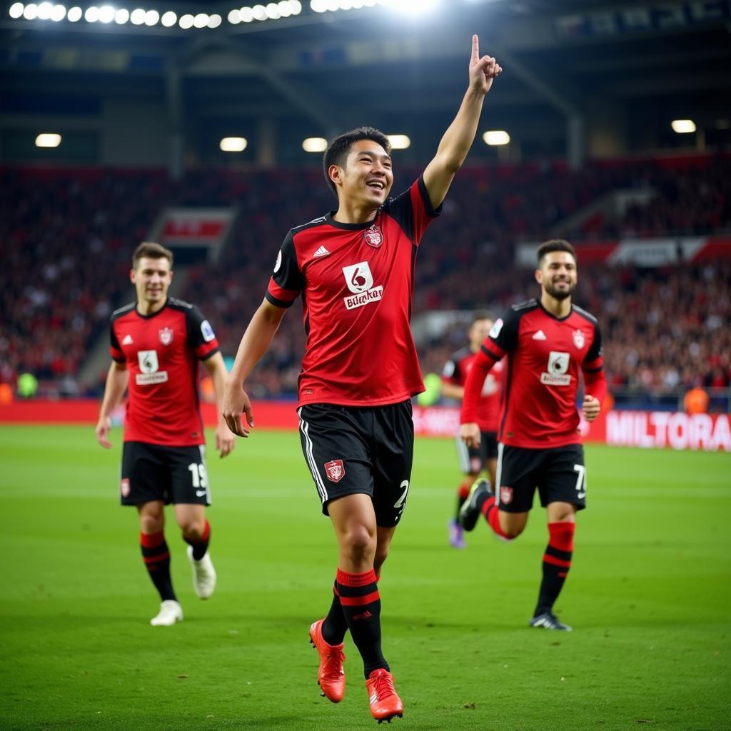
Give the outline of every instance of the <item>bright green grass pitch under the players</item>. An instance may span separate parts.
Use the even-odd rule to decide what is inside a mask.
[[[346,640],[345,700],[319,697],[311,621],[336,567],[296,433],[255,433],[211,458],[219,587],[151,627],[156,594],[135,512],[118,507],[121,433],[0,428],[0,728],[373,729]],[[420,730],[719,731],[731,727],[731,458],[589,447],[589,510],[557,610],[526,627],[545,515],[513,544],[483,524],[447,546],[450,440],[417,442],[404,523],[381,581],[385,654]]]

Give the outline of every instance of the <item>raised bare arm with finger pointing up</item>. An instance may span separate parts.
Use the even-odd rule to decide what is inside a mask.
[[[472,36],[472,55],[469,60],[469,88],[467,89],[457,116],[447,132],[444,132],[433,160],[424,170],[424,183],[433,208],[442,205],[450,189],[455,173],[462,167],[469,148],[477,134],[482,102],[490,91],[493,79],[502,71],[500,64],[492,56],[480,57],[477,36]]]

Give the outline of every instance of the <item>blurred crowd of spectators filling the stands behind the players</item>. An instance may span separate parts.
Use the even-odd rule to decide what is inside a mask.
[[[419,173],[397,162],[394,192]],[[215,265],[190,271],[184,298],[213,322],[233,355],[259,305],[289,227],[333,208],[319,170],[162,172],[0,171],[0,382],[31,372],[74,393],[90,345],[110,311],[132,296],[129,255],[166,205],[237,205],[230,242]],[[572,214],[618,189],[648,192],[621,216]],[[455,179],[442,220],[417,261],[414,315],[493,310],[535,295],[516,268],[517,240],[548,235],[618,238],[701,234],[731,227],[731,159],[471,167]],[[731,270],[718,260],[667,270],[582,267],[577,303],[599,315],[615,387],[728,387]],[[254,395],[295,392],[304,333],[299,305],[251,377]],[[463,344],[463,328],[420,343],[425,371]],[[99,384],[96,385],[97,387]]]

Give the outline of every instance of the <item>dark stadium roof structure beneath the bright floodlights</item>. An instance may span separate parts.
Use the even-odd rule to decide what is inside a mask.
[[[726,0],[442,0],[417,19],[382,7],[318,13],[303,0],[297,16],[236,25],[227,20],[232,2],[113,4],[178,18],[218,13],[222,22],[185,30],[16,20],[6,3],[2,98],[179,93],[171,103],[199,124],[268,115],[324,134],[364,119],[439,125],[461,98],[475,32],[482,52],[504,67],[490,100],[504,118],[551,124],[594,102],[731,116]],[[4,103],[0,115],[6,111]]]

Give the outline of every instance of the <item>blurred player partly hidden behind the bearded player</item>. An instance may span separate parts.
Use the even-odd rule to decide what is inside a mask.
[[[455,352],[450,360],[447,360],[447,363],[444,364],[442,370],[442,395],[447,398],[462,400],[469,368],[492,326],[493,318],[488,313],[478,312],[474,315],[468,331],[469,346]],[[487,470],[490,484],[495,484],[502,370],[503,364],[502,361],[499,361],[488,373],[485,383],[482,385],[480,404],[477,406],[477,424],[480,426],[481,434],[479,447],[467,447],[459,435],[456,438],[459,466],[464,477],[457,488],[457,510],[454,518],[450,518],[447,525],[450,545],[453,548],[465,547],[464,534],[459,523],[459,511],[469,495],[469,489],[477,480],[477,477],[480,477],[480,472]]]

